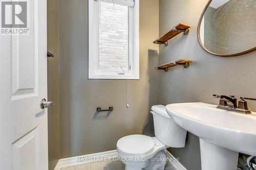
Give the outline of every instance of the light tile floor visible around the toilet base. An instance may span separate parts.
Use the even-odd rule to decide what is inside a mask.
[[[165,170],[175,170],[175,168],[167,161]],[[121,161],[105,161],[84,163],[76,166],[62,167],[60,170],[124,170],[124,164]]]

